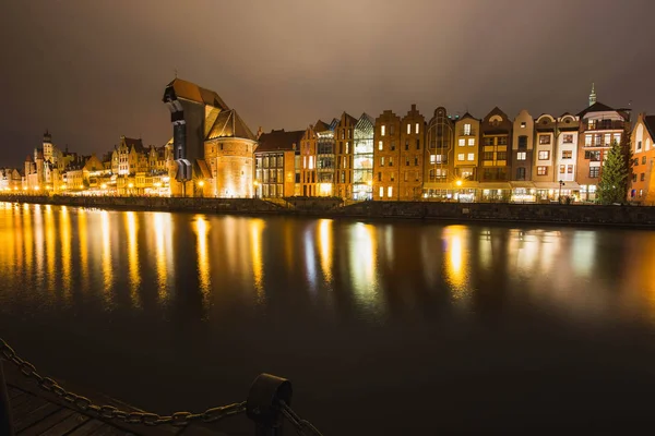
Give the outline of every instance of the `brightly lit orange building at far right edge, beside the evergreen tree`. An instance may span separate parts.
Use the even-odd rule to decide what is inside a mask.
[[[632,180],[628,199],[646,206],[655,205],[655,116],[640,113],[631,136]]]

